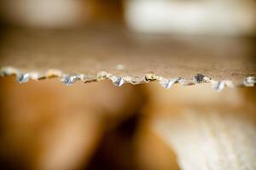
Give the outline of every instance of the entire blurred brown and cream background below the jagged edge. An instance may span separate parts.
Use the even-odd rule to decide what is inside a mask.
[[[255,88],[0,81],[7,169],[255,168]]]

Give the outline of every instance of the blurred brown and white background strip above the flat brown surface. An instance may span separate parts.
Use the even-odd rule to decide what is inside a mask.
[[[123,24],[143,33],[254,36],[254,0],[1,0],[6,26]]]

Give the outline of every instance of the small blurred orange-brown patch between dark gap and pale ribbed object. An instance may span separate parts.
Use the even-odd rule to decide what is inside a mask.
[[[151,116],[143,114],[134,138],[134,158],[138,170],[178,170],[177,157],[170,145],[152,130]]]

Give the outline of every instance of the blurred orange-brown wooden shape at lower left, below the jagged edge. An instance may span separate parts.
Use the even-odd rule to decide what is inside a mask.
[[[20,85],[0,80],[0,163],[6,169],[86,167],[102,134],[140,105],[134,87],[57,80]],[[13,167],[12,167],[13,166]]]

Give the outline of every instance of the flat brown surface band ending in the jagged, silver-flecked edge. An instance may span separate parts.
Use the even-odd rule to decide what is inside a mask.
[[[252,38],[139,35],[119,26],[8,29],[2,31],[0,68],[12,66],[42,74],[57,69],[92,77],[107,71],[138,81],[148,73],[186,79],[201,73],[217,81],[242,82],[256,75],[255,44]]]

